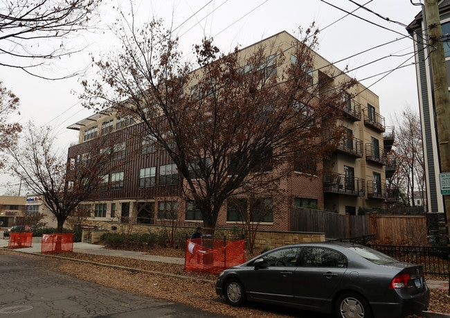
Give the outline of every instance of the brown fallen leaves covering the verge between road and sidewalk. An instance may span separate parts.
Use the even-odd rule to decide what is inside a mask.
[[[184,257],[179,249],[154,249],[151,254]],[[70,259],[80,260],[84,263]],[[136,260],[116,256],[100,256],[82,253],[62,253],[52,258],[53,268],[78,279],[91,281],[111,288],[137,292],[149,297],[186,303],[195,308],[230,317],[299,317],[298,311],[267,306],[229,306],[215,294],[217,274],[184,272],[183,265]],[[102,265],[96,265],[100,263]],[[105,270],[105,265],[110,266]],[[126,268],[125,268],[126,267]],[[426,279],[447,280],[442,276],[426,276]],[[260,308],[263,307],[264,310]],[[431,290],[429,310],[450,313],[447,290]],[[305,314],[304,317],[314,317]],[[417,316],[415,316],[417,317]]]

